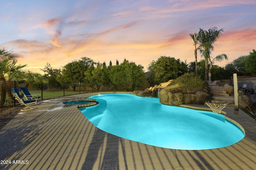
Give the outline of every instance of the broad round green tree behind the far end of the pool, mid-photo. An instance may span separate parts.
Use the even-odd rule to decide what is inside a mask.
[[[132,91],[136,87],[143,86],[147,80],[142,65],[124,60],[120,65],[112,66],[110,70],[110,80],[115,88]]]

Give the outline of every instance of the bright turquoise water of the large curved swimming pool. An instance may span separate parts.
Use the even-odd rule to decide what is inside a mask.
[[[80,108],[96,127],[148,145],[184,150],[227,147],[244,138],[224,115],[160,104],[132,94],[90,96],[96,106]]]

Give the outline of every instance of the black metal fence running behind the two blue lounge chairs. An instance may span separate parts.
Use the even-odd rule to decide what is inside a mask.
[[[38,96],[41,96],[40,100],[82,94],[86,92],[113,91],[113,85],[110,83],[48,83],[0,80],[0,113],[10,107],[18,105],[12,96],[11,89],[17,88],[20,90],[21,87],[27,87],[31,94],[38,94]],[[21,91],[20,94],[22,95]]]

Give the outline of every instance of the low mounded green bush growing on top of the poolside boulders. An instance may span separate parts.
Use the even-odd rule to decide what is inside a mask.
[[[182,76],[176,78],[168,86],[172,86],[174,84],[179,84],[180,87],[186,88],[208,87],[208,85],[200,78],[200,76],[196,76],[193,72],[183,74]]]

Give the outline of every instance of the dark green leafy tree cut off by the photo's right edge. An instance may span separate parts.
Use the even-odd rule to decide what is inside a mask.
[[[252,50],[245,61],[245,70],[252,76],[256,76],[256,51]]]

